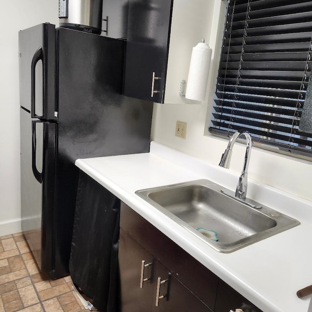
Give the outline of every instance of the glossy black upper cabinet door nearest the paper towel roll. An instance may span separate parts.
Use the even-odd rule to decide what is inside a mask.
[[[173,0],[129,0],[124,95],[164,98]]]

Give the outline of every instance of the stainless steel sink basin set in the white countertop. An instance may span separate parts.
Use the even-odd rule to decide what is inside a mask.
[[[251,201],[246,204],[209,180],[139,190],[136,194],[218,252],[231,253],[300,224]],[[204,230],[204,234],[199,231]],[[215,231],[218,241],[209,238]],[[208,237],[206,237],[208,236]]]

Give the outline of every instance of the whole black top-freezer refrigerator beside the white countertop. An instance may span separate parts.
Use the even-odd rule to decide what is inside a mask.
[[[125,44],[49,23],[19,32],[21,225],[52,278],[69,273],[75,160],[149,151],[152,105],[122,95]]]

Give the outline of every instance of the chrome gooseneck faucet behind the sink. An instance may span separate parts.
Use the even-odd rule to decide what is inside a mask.
[[[252,137],[248,131],[245,130],[240,130],[234,133],[234,135],[231,137],[230,142],[228,144],[228,147],[226,148],[225,152],[222,154],[219,166],[223,168],[229,168],[230,167],[230,161],[231,161],[231,156],[232,156],[232,150],[233,146],[236,142],[236,140],[244,136],[246,137],[246,153],[245,153],[245,159],[244,159],[244,166],[242,173],[239,177],[237,187],[236,187],[236,192],[235,192],[235,197],[239,199],[246,199],[246,194],[247,194],[247,170],[248,170],[248,164],[249,164],[249,159],[250,159],[250,154],[252,151]]]

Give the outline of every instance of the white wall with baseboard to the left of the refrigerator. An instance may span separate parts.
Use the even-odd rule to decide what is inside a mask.
[[[58,0],[0,0],[0,236],[20,232],[18,32],[58,25]]]

